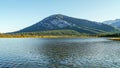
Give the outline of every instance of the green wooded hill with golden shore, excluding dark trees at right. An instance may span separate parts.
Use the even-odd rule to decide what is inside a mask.
[[[51,30],[41,32],[24,32],[12,34],[0,34],[1,38],[74,38],[74,37],[89,37],[90,35],[79,33],[74,30]],[[92,36],[92,35],[91,35]]]

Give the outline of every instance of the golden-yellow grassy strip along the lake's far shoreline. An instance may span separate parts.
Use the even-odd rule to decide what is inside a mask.
[[[1,35],[0,38],[99,38],[98,36],[76,36],[76,35],[64,35],[64,36],[53,36],[53,35]],[[109,40],[120,41],[120,37],[109,38]]]

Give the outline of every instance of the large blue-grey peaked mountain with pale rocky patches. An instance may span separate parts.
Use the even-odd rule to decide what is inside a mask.
[[[114,27],[94,21],[69,17],[62,14],[51,15],[42,21],[14,33],[40,32],[50,30],[74,30],[85,34],[98,34],[116,30]]]

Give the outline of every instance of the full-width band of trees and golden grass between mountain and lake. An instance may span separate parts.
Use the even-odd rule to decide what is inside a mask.
[[[0,38],[79,38],[79,37],[120,37],[118,32],[106,32],[101,34],[79,33],[75,30],[51,30],[40,32],[24,32],[0,34]]]

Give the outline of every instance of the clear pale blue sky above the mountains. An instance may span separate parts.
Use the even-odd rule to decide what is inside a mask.
[[[53,14],[97,22],[120,19],[120,0],[0,0],[0,33],[23,29]]]

